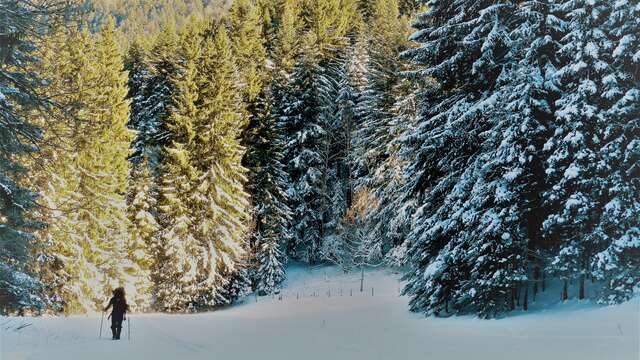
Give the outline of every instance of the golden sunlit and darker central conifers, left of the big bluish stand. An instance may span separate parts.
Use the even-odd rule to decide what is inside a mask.
[[[16,224],[37,281],[5,308],[29,295],[93,311],[122,284],[137,310],[210,309],[278,291],[289,258],[380,260],[348,209],[368,201],[355,169],[373,181],[376,161],[395,156],[376,127],[409,94],[400,8],[244,0],[223,18],[164,21],[125,51],[113,18],[33,39],[29,70],[51,105],[25,114],[42,135],[37,159],[18,158],[31,168],[20,183],[38,192],[23,215],[44,226]],[[365,136],[381,152],[366,162]]]

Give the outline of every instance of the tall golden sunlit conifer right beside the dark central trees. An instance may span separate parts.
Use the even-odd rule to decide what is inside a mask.
[[[244,190],[246,169],[242,166],[245,149],[240,145],[242,107],[240,91],[236,87],[236,68],[232,44],[224,27],[214,29],[213,38],[205,41],[202,68],[199,73],[201,109],[197,118],[197,147],[191,149],[198,159],[199,171],[195,200],[195,218],[198,220],[198,240],[210,254],[206,269],[207,285],[221,287],[228,278],[243,274],[246,253],[246,222],[249,215],[248,194]],[[233,280],[233,279],[232,279]],[[246,283],[236,279],[229,283]],[[226,304],[241,295],[230,291],[206,301]]]

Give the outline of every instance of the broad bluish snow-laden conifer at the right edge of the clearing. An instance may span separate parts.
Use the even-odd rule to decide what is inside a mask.
[[[416,76],[437,81],[419,93],[419,122],[403,149],[414,159],[407,189],[418,206],[405,292],[412,310],[499,316],[515,308],[528,281],[537,230],[528,221],[539,205],[530,191],[540,186],[553,101],[545,26],[554,17],[535,14],[533,2],[474,2],[460,14],[453,2],[430,5],[414,35],[425,45],[405,53],[426,65]],[[515,18],[537,23],[518,28]],[[454,46],[456,39],[469,46]]]

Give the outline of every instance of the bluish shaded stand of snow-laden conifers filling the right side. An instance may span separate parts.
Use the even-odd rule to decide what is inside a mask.
[[[638,1],[429,1],[406,137],[411,309],[619,303],[640,282]],[[593,284],[596,282],[596,284]],[[570,294],[569,285],[575,284]],[[634,290],[635,288],[635,290]]]

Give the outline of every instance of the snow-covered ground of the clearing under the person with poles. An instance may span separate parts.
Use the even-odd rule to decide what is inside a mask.
[[[131,340],[105,319],[0,318],[0,360],[639,360],[640,301],[569,302],[501,320],[424,318],[398,296],[398,275],[293,267],[283,298],[198,315],[133,315]],[[372,295],[373,288],[373,295]],[[351,296],[353,291],[353,296]],[[315,296],[314,296],[315,293]],[[26,326],[26,327],[25,327]]]

